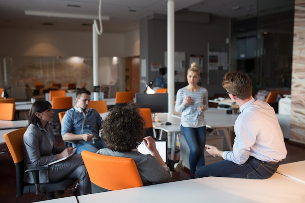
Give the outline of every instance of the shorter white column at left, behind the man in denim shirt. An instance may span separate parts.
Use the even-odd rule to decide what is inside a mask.
[[[93,86],[98,86],[98,35],[95,30],[94,24],[92,25],[92,38],[93,38]],[[94,101],[98,100],[98,92],[94,92]]]

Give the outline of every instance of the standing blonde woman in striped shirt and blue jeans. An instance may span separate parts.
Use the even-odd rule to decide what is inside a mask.
[[[197,84],[200,71],[194,62],[187,72],[187,79],[189,85],[177,92],[175,111],[182,112],[180,129],[190,148],[191,178],[194,178],[196,167],[205,165],[206,121],[203,111],[209,108],[208,90]]]

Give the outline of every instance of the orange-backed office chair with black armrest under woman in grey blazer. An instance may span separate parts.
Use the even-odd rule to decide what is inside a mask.
[[[23,160],[23,134],[26,128],[17,129],[11,132],[8,132],[4,135],[4,140],[6,142],[7,148],[9,149],[10,154],[15,163],[16,167],[16,182],[17,182],[17,197],[21,197],[23,193],[36,193],[42,194],[38,199],[40,200],[45,193],[47,193],[47,199],[55,198],[55,191],[58,191],[58,194],[63,194],[63,191],[67,190],[69,187],[74,185],[77,179],[67,178],[55,183],[39,183],[39,171],[48,170],[47,166],[36,166],[29,168],[24,171],[24,160]],[[23,173],[31,172],[34,177],[35,184],[29,184],[23,181]],[[74,194],[77,195],[77,185],[74,188]],[[73,187],[72,187],[73,189]]]

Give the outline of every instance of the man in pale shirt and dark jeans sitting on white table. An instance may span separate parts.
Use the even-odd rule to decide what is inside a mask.
[[[252,83],[248,74],[235,71],[225,74],[223,88],[240,107],[234,125],[236,137],[232,151],[221,151],[205,145],[212,156],[224,161],[200,167],[195,178],[218,176],[248,179],[266,179],[286,158],[284,136],[274,109],[262,100],[252,97]]]

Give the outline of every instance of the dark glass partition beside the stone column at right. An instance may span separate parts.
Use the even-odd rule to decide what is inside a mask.
[[[254,92],[290,90],[293,22],[294,0],[257,0],[256,17],[233,20],[236,67],[250,74]]]

